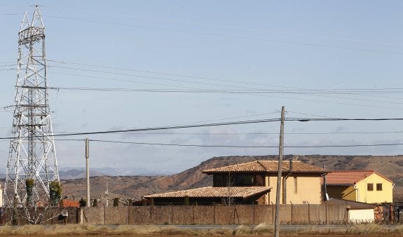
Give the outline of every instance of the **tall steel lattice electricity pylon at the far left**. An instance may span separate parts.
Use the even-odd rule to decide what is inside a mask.
[[[47,201],[49,183],[59,181],[59,174],[48,104],[45,27],[38,6],[31,22],[25,12],[18,33],[12,137],[4,187],[5,204],[27,201],[27,179],[34,180],[30,203],[27,204]]]

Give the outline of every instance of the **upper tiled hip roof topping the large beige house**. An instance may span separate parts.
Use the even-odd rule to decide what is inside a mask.
[[[203,170],[206,174],[218,172],[277,172],[278,161],[251,161],[237,165],[228,165],[220,168]],[[289,171],[289,161],[282,162],[282,171]],[[301,161],[292,161],[292,172],[297,173],[325,173],[326,170]]]

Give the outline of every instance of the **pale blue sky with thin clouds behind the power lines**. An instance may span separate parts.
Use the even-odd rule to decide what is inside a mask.
[[[402,1],[1,1],[0,138],[11,135],[20,22],[35,5],[55,134],[277,119],[282,106],[286,118],[403,118]],[[85,167],[88,138],[90,167],[181,172],[278,154],[279,132],[272,121],[55,146],[59,168]],[[284,153],[397,155],[403,145],[376,144],[402,134],[402,121],[286,121]],[[370,146],[327,147],[356,144]]]

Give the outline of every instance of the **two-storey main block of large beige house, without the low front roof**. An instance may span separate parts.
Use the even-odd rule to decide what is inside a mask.
[[[213,187],[226,187],[228,184],[238,187],[271,187],[270,192],[259,200],[259,204],[275,204],[278,161],[252,161],[203,172],[213,175]],[[322,203],[320,180],[325,172],[322,168],[301,161],[284,161],[280,190],[281,204]]]

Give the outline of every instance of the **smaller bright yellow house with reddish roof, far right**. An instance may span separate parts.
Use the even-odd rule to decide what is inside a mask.
[[[334,171],[326,175],[331,198],[361,203],[392,203],[393,182],[374,170]]]

